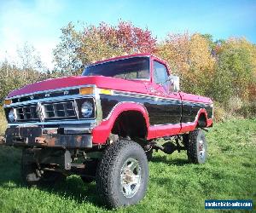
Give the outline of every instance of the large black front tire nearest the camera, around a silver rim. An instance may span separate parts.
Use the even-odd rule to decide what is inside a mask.
[[[121,173],[124,168],[129,168],[125,167],[129,166],[129,160],[136,162],[140,171],[140,184],[131,197],[125,196],[121,183],[124,180]],[[133,172],[136,173],[136,170]],[[137,204],[145,196],[148,187],[148,159],[143,148],[128,140],[119,140],[107,147],[96,170],[96,187],[103,203],[108,207],[118,208]]]

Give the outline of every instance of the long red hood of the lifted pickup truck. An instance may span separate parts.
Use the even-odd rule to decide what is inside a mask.
[[[8,97],[17,95],[28,95],[40,91],[64,89],[76,86],[96,85],[102,89],[116,89],[130,92],[147,93],[147,89],[143,81],[131,81],[121,78],[111,78],[104,76],[73,76],[66,78],[50,78],[37,83],[26,85],[23,88],[12,91]]]

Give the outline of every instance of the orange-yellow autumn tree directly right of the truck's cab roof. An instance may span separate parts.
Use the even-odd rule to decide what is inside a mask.
[[[215,58],[207,39],[201,34],[169,34],[158,45],[156,55],[165,59],[183,83],[183,90],[207,95],[212,79]]]

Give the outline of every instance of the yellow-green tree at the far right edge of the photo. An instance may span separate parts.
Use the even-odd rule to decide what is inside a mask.
[[[228,104],[231,97],[242,101],[250,99],[250,89],[255,85],[255,46],[244,38],[232,38],[223,43],[218,54],[218,67],[212,78],[212,96]]]

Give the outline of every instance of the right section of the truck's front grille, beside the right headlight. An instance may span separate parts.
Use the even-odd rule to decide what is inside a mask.
[[[44,118],[77,118],[73,101],[42,103]]]

